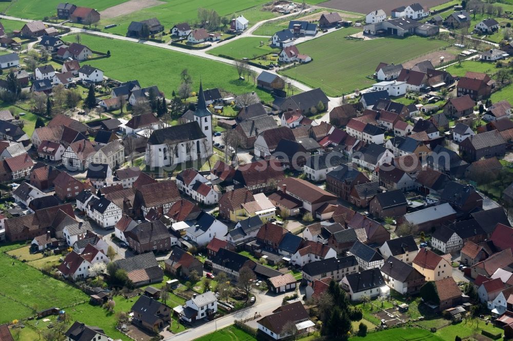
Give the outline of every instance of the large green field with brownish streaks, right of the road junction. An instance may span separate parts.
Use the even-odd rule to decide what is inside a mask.
[[[402,63],[448,45],[443,40],[418,36],[366,41],[344,38],[358,31],[345,28],[297,45],[300,53],[313,60],[284,74],[312,88],[323,88],[328,96],[340,96],[370,87],[375,81],[366,77],[381,61]]]

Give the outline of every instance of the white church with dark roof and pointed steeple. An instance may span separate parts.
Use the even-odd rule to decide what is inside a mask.
[[[212,114],[205,103],[201,82],[196,110],[184,114],[182,122],[151,133],[146,147],[147,165],[158,168],[212,155]]]

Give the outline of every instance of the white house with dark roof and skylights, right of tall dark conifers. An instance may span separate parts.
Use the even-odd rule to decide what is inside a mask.
[[[379,268],[347,274],[340,283],[348,291],[349,300],[351,301],[360,301],[363,296],[372,299],[380,295],[386,295],[389,291]]]

